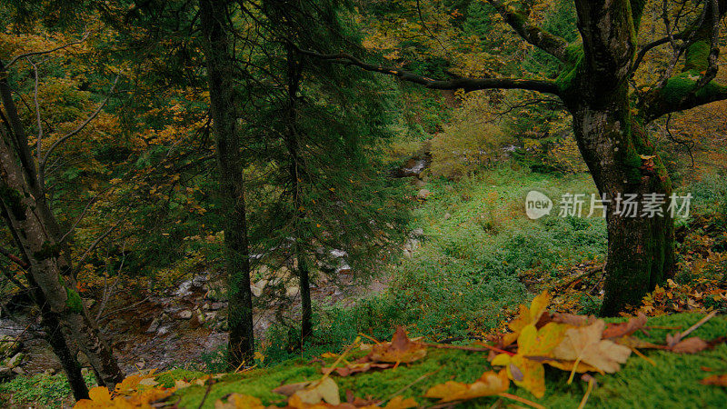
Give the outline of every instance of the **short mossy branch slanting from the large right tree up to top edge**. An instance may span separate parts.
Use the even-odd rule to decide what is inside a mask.
[[[566,52],[568,42],[562,37],[548,33],[543,28],[531,24],[525,15],[518,13],[509,5],[504,5],[499,0],[487,0],[487,2],[493,5],[495,10],[503,16],[505,22],[513,27],[515,33],[523,37],[525,41],[565,63],[570,62]]]

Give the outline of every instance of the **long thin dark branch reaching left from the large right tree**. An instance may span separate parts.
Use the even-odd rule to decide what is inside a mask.
[[[332,64],[355,65],[365,71],[372,71],[383,75],[393,75],[403,81],[423,85],[430,89],[463,89],[465,92],[483,89],[525,89],[553,95],[558,95],[560,92],[558,85],[556,85],[554,81],[521,78],[456,78],[453,80],[435,80],[423,75],[415,75],[412,72],[404,71],[393,66],[364,63],[353,55],[321,54],[314,51],[303,50],[297,45],[293,46],[295,50],[302,55],[325,60]]]

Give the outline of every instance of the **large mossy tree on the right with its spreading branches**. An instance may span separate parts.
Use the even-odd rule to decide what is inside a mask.
[[[693,15],[697,17],[692,21],[678,19],[686,21],[680,27],[670,25],[675,12],[664,2],[667,35],[641,47],[637,35],[646,1],[575,0],[580,38],[570,43],[529,20],[532,2],[517,8],[498,0],[488,2],[524,41],[560,62],[557,78],[437,80],[398,67],[369,64],[356,55],[298,49],[304,55],[356,65],[431,89],[521,89],[557,95],[573,115],[573,131],[595,185],[611,200],[601,314],[618,314],[674,274],[673,220],[667,211],[672,185],[662,159],[654,152],[647,125],[663,115],[727,99],[727,86],[714,81],[719,24],[727,1],[686,2],[681,10],[696,10]],[[673,53],[663,64],[662,78],[655,84],[633,86],[633,75],[644,56],[666,44],[672,45]],[[682,61],[681,73],[674,74]],[[615,201],[625,195],[665,196],[667,203],[660,207],[663,215],[648,218],[616,214]]]

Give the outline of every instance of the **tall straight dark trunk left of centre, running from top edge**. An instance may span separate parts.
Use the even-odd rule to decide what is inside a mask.
[[[230,364],[237,367],[254,361],[253,294],[250,290],[250,251],[244,202],[244,161],[236,115],[239,100],[234,91],[234,55],[225,26],[227,5],[220,0],[200,0],[199,6],[224,230],[229,296],[228,349]]]

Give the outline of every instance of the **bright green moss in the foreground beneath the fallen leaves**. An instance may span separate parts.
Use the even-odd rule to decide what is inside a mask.
[[[672,329],[652,329],[648,335],[639,334],[639,337],[662,343],[666,334],[679,331],[673,327],[680,327],[683,331],[701,317],[700,314],[675,314],[651,318],[649,325]],[[703,339],[723,336],[727,334],[727,319],[715,317],[692,334]],[[648,351],[646,355],[655,366],[632,354],[621,372],[596,375],[598,386],[593,390],[586,407],[702,408],[724,407],[727,404],[727,390],[699,383],[700,379],[713,374],[705,372],[702,367],[712,368],[716,373],[727,373],[727,345],[720,344],[712,351],[693,355],[662,351]],[[173,401],[182,408],[196,408],[200,404],[204,408],[213,408],[216,400],[227,394],[238,393],[259,397],[264,404],[283,404],[283,396],[272,393],[272,389],[281,384],[317,379],[321,376],[320,368],[320,363],[297,359],[244,374],[228,374],[213,384],[208,393],[206,386],[191,386],[174,394]],[[418,363],[349,377],[336,376],[334,379],[340,387],[342,398],[346,390],[353,391],[356,396],[372,395],[379,399],[401,394],[427,405],[434,404],[434,401],[422,396],[432,385],[448,380],[473,382],[489,369],[487,354],[430,348],[429,354]],[[174,376],[184,377],[188,374],[177,372]],[[166,382],[171,383],[174,376],[165,375]],[[547,391],[543,399],[536,399],[513,385],[508,392],[546,407],[578,407],[586,384],[576,381],[569,385],[566,384],[567,378],[565,372],[546,369]],[[496,400],[493,397],[480,398],[462,404],[462,407],[490,407]]]

